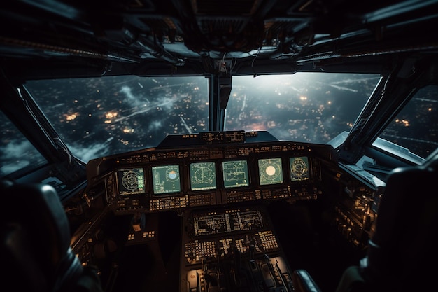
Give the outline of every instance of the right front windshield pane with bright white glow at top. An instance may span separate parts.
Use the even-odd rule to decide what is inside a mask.
[[[234,76],[226,130],[267,130],[279,140],[325,144],[350,131],[379,74]]]

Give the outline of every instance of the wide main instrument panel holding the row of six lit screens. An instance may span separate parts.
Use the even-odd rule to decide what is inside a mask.
[[[174,146],[90,160],[88,181],[104,181],[115,214],[302,200],[320,193],[321,162],[336,157],[328,145],[251,141],[253,132],[229,136],[171,137]]]

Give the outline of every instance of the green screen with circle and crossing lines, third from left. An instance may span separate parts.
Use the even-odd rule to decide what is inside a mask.
[[[192,190],[211,190],[216,188],[215,162],[190,163],[190,186]]]

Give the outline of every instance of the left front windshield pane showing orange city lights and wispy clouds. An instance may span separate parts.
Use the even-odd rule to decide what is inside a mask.
[[[84,162],[209,129],[204,77],[106,76],[28,81],[26,87]]]

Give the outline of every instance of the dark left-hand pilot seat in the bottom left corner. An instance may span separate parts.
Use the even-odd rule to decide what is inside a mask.
[[[0,181],[1,283],[15,291],[99,291],[95,270],[70,247],[69,221],[55,188]]]

